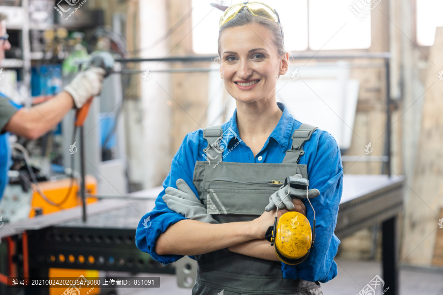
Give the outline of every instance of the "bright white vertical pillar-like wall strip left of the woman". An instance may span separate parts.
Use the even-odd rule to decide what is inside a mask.
[[[135,34],[135,57],[161,58],[170,51],[168,40],[161,40],[169,24],[169,8],[165,1],[140,1],[137,8],[139,30]],[[138,89],[140,99],[128,104],[128,128],[131,146],[131,177],[142,189],[161,185],[171,167],[171,74],[158,71],[169,64],[158,62],[133,63],[142,71],[132,75],[134,85],[128,92]],[[130,110],[130,111],[129,111]],[[133,129],[132,129],[133,128]]]

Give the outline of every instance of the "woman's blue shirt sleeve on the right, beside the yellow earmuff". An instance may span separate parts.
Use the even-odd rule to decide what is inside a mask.
[[[320,195],[311,199],[316,211],[316,240],[308,258],[299,265],[282,263],[285,279],[303,279],[325,283],[337,275],[337,254],[340,240],[335,236],[337,214],[343,190],[343,166],[340,149],[335,139],[319,130],[316,152],[308,155],[309,188],[316,188]],[[307,142],[308,144],[308,142]],[[312,145],[312,143],[311,143]],[[313,226],[314,212],[306,201],[307,218]]]

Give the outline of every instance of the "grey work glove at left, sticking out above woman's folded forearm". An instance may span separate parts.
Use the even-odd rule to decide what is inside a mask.
[[[163,201],[169,209],[182,214],[188,219],[206,223],[219,223],[206,212],[205,206],[200,203],[185,180],[177,179],[177,188],[168,187],[165,190]]]

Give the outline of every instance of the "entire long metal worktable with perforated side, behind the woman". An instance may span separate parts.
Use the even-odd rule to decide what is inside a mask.
[[[386,175],[345,175],[343,182],[335,233],[343,238],[381,222],[382,278],[390,287],[390,294],[398,295],[396,224],[403,209],[403,179]],[[82,222],[81,207],[77,207],[4,225],[0,229],[0,253],[7,253],[11,259],[0,260],[0,272],[45,277],[49,267],[59,267],[174,273],[172,265],[157,263],[135,246],[135,228],[142,216],[154,207],[161,190],[162,187],[157,187],[133,193],[126,200],[89,204],[86,223]],[[69,261],[69,257],[74,261]],[[79,257],[83,257],[83,263]],[[48,294],[47,290],[29,290],[33,295]]]

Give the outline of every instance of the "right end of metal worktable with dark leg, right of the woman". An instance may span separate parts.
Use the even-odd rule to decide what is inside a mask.
[[[398,229],[403,212],[403,178],[345,175],[335,234],[339,238],[381,222],[382,279],[398,295]]]

